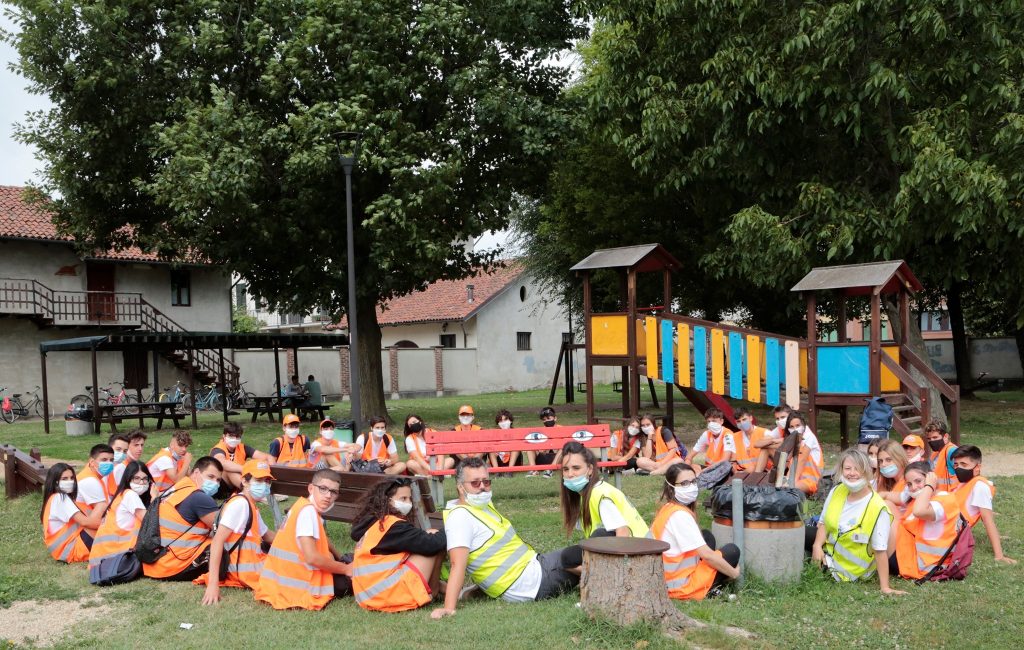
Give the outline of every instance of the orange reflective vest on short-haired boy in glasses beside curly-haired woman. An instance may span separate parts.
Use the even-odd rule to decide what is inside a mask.
[[[253,588],[256,600],[274,609],[323,609],[334,598],[334,574],[308,564],[302,557],[302,549],[295,535],[299,513],[311,505],[304,496],[295,502],[288,512],[285,526],[273,537],[273,545],[259,572],[259,582]],[[319,537],[313,539],[316,551],[331,557],[327,529],[319,515],[316,523],[319,526]]]

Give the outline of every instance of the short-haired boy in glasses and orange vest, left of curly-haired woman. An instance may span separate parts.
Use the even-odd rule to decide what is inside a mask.
[[[316,470],[308,490],[288,511],[253,589],[257,601],[274,609],[324,609],[336,596],[352,593],[352,565],[335,550],[324,526],[324,513],[341,493],[341,477],[334,470]]]

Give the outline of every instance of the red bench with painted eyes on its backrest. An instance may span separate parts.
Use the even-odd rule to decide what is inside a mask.
[[[609,461],[608,447],[611,446],[611,430],[608,425],[567,425],[563,427],[530,427],[517,429],[480,429],[478,431],[430,431],[425,434],[427,458],[430,459],[430,476],[434,499],[444,497],[440,478],[455,474],[455,470],[436,467],[441,456],[479,454],[498,451],[558,451],[566,442],[575,441],[595,451],[597,466],[616,470],[626,467],[623,461]],[[558,465],[516,465],[515,467],[492,468],[493,472],[539,472],[561,470]],[[615,487],[622,487],[622,474],[615,475]]]

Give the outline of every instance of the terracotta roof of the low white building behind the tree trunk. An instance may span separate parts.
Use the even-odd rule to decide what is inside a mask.
[[[480,271],[464,279],[442,279],[428,285],[423,291],[395,298],[377,307],[377,322],[381,326],[411,324],[414,322],[442,322],[466,320],[487,302],[514,283],[524,267],[517,261],[505,262],[489,273]],[[467,300],[469,286],[473,286],[473,302]],[[341,330],[348,320],[325,326],[325,330]]]

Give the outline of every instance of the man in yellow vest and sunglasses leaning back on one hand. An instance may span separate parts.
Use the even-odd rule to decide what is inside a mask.
[[[444,605],[431,618],[452,616],[468,573],[490,598],[522,603],[554,598],[580,583],[583,549],[579,546],[538,555],[490,503],[490,478],[483,459],[456,466],[458,501],[443,512],[452,570]]]

